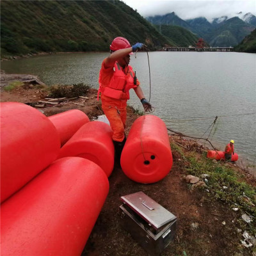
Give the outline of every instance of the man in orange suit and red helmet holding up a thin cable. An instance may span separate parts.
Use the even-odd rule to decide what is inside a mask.
[[[125,122],[127,118],[127,100],[129,90],[133,89],[143,104],[146,112],[152,110],[145,99],[140,82],[129,65],[130,54],[143,48],[143,44],[130,45],[124,37],[116,37],[110,45],[110,55],[102,61],[99,74],[99,94],[101,93],[102,109],[113,130],[113,143],[116,158],[120,160],[125,144]]]

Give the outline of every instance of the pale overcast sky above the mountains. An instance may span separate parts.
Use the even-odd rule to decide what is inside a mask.
[[[237,13],[252,13],[256,16],[255,0],[123,0],[143,17],[164,15],[175,12],[181,19],[205,17],[210,22],[221,16],[228,18],[237,16]]]

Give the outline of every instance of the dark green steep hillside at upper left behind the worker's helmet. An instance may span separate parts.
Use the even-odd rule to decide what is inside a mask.
[[[149,49],[177,45],[122,1],[1,1],[1,55],[108,51],[116,36]]]

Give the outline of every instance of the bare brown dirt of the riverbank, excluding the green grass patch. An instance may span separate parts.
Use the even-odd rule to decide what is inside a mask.
[[[12,92],[1,92],[1,102],[15,101],[33,103],[45,99],[47,93],[43,90],[31,88],[24,90],[17,88]],[[40,108],[46,116],[55,115],[68,109],[79,109],[86,113],[90,120],[103,115],[100,102],[97,101],[97,91],[90,90],[89,99],[75,99],[61,106]],[[82,105],[77,105],[83,104]],[[126,134],[131,125],[138,118],[133,109],[128,109]],[[184,140],[177,136],[170,136],[191,150],[204,151],[195,141]],[[182,148],[184,154],[189,150]],[[200,157],[200,153],[198,153]],[[120,196],[143,191],[158,204],[177,216],[177,232],[173,241],[161,253],[170,256],[242,256],[253,255],[252,248],[244,248],[240,227],[240,213],[232,211],[223,202],[212,200],[206,189],[191,189],[185,181],[186,161],[177,151],[173,151],[173,166],[170,173],[155,184],[138,184],[128,179],[122,169],[115,166],[109,177],[109,194],[88,239],[83,256],[115,256],[134,255],[146,256],[148,253],[132,238],[131,234],[122,228],[122,218],[119,206],[122,204]],[[237,172],[243,172],[234,167]],[[255,179],[249,174],[245,176],[250,184],[255,185]],[[225,225],[223,225],[225,221]]]

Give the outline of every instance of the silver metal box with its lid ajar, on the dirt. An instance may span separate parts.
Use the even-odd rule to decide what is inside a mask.
[[[177,217],[143,192],[121,196],[121,224],[150,255],[159,255],[172,241]]]

